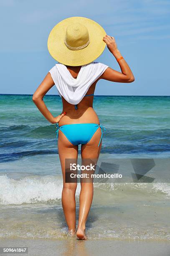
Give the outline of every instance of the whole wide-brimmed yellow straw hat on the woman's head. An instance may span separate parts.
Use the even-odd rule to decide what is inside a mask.
[[[60,21],[48,36],[48,51],[58,62],[83,66],[97,59],[106,46],[104,29],[94,20],[71,17]]]

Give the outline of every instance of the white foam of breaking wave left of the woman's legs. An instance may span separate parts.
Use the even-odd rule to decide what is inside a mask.
[[[60,200],[62,185],[62,180],[52,175],[26,177],[20,180],[10,179],[3,175],[0,176],[0,204],[20,205]]]

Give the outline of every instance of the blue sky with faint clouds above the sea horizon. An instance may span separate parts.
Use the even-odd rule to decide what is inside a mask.
[[[100,80],[96,95],[170,95],[168,0],[1,0],[0,93],[33,94],[56,63],[48,35],[71,16],[91,18],[114,36],[135,77],[129,84]],[[120,71],[107,47],[96,61]]]

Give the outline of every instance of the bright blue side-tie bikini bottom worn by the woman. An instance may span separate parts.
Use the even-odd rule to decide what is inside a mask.
[[[57,125],[56,136],[58,137],[58,130],[62,131],[62,133],[74,146],[88,143],[99,127],[101,128],[101,138],[103,136],[102,129],[104,128],[104,126],[98,125],[96,123],[76,123],[76,124],[61,125],[60,127],[58,123],[56,125]],[[104,128],[104,130],[106,129]],[[99,145],[101,142],[101,138],[99,141]]]

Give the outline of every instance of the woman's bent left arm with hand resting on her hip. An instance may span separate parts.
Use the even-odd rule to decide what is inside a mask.
[[[43,116],[50,122],[50,123],[58,123],[59,120],[66,115],[66,112],[62,113],[61,115],[58,115],[57,117],[53,117],[53,115],[50,113],[48,108],[46,107],[43,97],[46,95],[46,93],[53,87],[54,82],[51,77],[51,74],[48,72],[46,77],[43,79],[43,82],[39,85],[36,92],[33,94],[33,102],[36,104],[37,108],[40,110],[40,112],[43,114]]]

